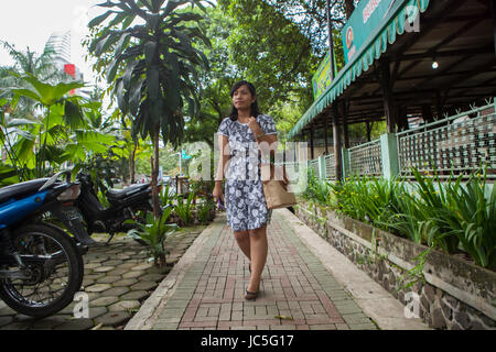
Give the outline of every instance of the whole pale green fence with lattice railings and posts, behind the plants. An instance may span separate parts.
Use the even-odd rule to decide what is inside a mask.
[[[455,116],[399,133],[387,133],[376,141],[344,148],[343,175],[397,175],[412,178],[411,167],[440,177],[471,174],[487,168],[496,178],[496,100],[486,106],[459,111]],[[334,155],[320,156],[309,167],[322,179],[335,179]]]

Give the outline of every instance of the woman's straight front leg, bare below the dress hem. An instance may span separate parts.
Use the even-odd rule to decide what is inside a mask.
[[[260,286],[261,273],[267,261],[268,241],[267,226],[249,231],[251,277],[247,290],[257,293]]]

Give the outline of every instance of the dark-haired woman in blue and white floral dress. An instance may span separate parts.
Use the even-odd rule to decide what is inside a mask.
[[[250,261],[251,276],[245,298],[255,299],[267,261],[267,224],[271,217],[263,196],[260,164],[270,162],[269,152],[277,144],[277,131],[273,119],[259,112],[254,85],[245,80],[237,82],[230,97],[233,111],[220,122],[217,132],[220,157],[213,195],[215,201],[225,199],[227,224]]]

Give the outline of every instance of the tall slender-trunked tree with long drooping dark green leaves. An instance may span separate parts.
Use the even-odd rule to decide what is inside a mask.
[[[166,3],[165,3],[166,2]],[[198,0],[108,0],[109,8],[88,26],[111,19],[91,41],[89,51],[106,67],[119,109],[132,117],[132,134],[153,141],[152,190],[155,219],[159,217],[159,140],[174,147],[183,140],[184,110],[194,116],[200,106],[197,68],[208,66],[206,56],[193,46],[195,40],[209,44],[197,26],[202,15],[186,4],[203,9]],[[134,24],[134,19],[141,23]],[[193,24],[191,23],[193,22]],[[111,56],[110,63],[108,57]]]

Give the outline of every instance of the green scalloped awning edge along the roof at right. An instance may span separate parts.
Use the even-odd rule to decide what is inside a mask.
[[[411,11],[409,7],[414,7],[419,11]],[[396,0],[389,13],[370,33],[370,36],[358,53],[343,67],[331,86],[312,103],[288,133],[288,140],[296,136],[305,125],[360,77],[362,73],[367,72],[374,62],[379,59],[381,54],[386,53],[388,43],[393,44],[397,35],[402,35],[406,32],[406,22],[414,21],[420,13],[425,12],[428,7],[429,0]]]

